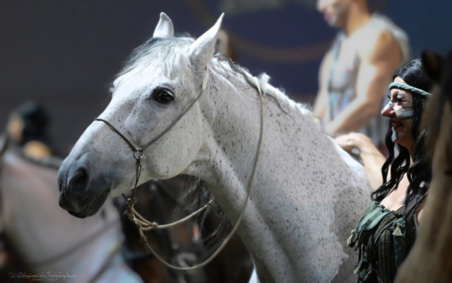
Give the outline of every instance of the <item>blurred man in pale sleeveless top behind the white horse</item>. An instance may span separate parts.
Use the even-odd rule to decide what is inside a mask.
[[[408,37],[391,20],[371,15],[367,0],[317,0],[317,9],[340,32],[323,57],[314,103],[327,133],[352,131],[384,151],[383,108],[394,71],[408,61]]]

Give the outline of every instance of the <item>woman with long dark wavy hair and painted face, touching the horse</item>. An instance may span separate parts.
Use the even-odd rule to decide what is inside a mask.
[[[381,168],[383,184],[372,193],[368,210],[348,240],[349,246],[359,250],[358,282],[393,282],[415,241],[432,179],[425,133],[419,131],[431,87],[420,59],[409,61],[393,76],[391,101],[381,111],[389,120],[388,157],[382,166],[384,157],[369,138],[355,133],[336,140],[345,150],[359,150],[364,166],[370,167],[368,174]]]

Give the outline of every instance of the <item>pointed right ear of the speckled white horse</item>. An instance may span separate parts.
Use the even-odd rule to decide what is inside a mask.
[[[225,13],[222,13],[220,18],[218,18],[217,23],[191,44],[189,49],[191,64],[196,65],[198,68],[203,68],[204,66],[207,66],[210,59],[212,59],[218,30],[220,30],[221,21],[224,15]]]

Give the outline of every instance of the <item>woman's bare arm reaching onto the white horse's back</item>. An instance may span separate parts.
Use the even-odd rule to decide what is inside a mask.
[[[386,158],[374,146],[371,139],[362,133],[349,133],[347,135],[338,136],[335,142],[346,152],[351,153],[354,148],[359,150],[359,155],[364,162],[367,178],[374,190],[379,188],[383,183],[381,176],[381,167],[383,167]]]

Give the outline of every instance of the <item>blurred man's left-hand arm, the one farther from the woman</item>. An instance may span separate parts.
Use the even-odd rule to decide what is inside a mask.
[[[323,57],[319,70],[319,92],[314,102],[314,116],[323,119],[328,107],[328,73],[331,67],[331,52],[327,52]]]

